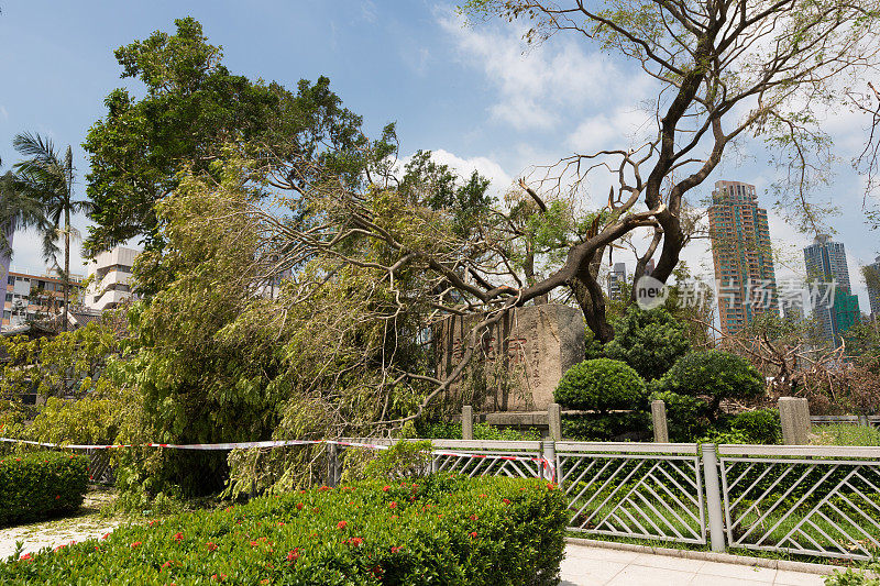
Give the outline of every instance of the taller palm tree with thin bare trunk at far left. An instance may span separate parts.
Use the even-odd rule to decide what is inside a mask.
[[[37,226],[43,234],[43,258],[58,266],[61,252],[56,244],[64,236],[64,307],[62,328],[67,330],[67,306],[70,300],[70,214],[87,212],[88,201],[74,200],[74,153],[70,146],[62,157],[50,139],[30,132],[16,135],[12,146],[30,157],[15,165],[15,190],[22,197],[38,201],[44,220]],[[62,226],[62,221],[64,225]]]

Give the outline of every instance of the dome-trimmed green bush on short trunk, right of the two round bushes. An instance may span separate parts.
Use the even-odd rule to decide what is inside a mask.
[[[660,390],[706,398],[706,417],[715,421],[725,399],[751,399],[765,391],[765,378],[748,361],[710,350],[688,354],[660,379]]]

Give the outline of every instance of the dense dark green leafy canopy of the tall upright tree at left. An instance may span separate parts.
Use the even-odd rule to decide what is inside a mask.
[[[362,120],[342,107],[320,77],[300,80],[293,93],[279,84],[231,74],[222,49],[208,43],[193,18],[175,21],[176,33],[156,31],[116,51],[123,78],[146,86],[136,98],[116,89],[105,100],[107,115],[88,132],[84,147],[95,204],[88,246],[102,250],[141,236],[160,244],[154,204],[178,185],[178,173],[209,170],[229,144],[248,145],[257,168],[272,162],[272,180],[300,190],[321,174],[360,181],[374,151]],[[383,135],[388,154],[393,128]],[[316,166],[317,161],[321,162]]]

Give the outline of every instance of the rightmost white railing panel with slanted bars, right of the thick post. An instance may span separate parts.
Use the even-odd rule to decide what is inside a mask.
[[[719,445],[728,546],[880,554],[880,447]]]

